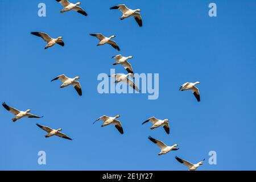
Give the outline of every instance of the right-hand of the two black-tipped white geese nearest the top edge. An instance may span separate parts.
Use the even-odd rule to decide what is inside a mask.
[[[116,9],[120,10],[123,13],[123,15],[120,18],[121,20],[125,18],[129,18],[130,16],[133,16],[136,22],[139,24],[139,27],[142,27],[141,14],[138,13],[139,11],[141,11],[140,9],[131,10],[127,8],[125,5],[117,5],[117,6],[110,7],[110,10],[116,10]]]

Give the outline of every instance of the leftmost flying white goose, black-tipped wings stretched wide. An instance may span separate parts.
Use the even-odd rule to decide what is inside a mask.
[[[7,104],[5,104],[5,102],[2,103],[3,107],[5,107],[6,110],[10,111],[11,113],[13,113],[15,115],[15,117],[11,120],[13,120],[13,122],[17,121],[18,119],[21,119],[23,117],[27,117],[27,118],[42,118],[39,117],[37,115],[34,114],[30,114],[29,112],[31,111],[30,109],[26,110],[26,111],[20,111],[18,109],[15,109],[13,107],[8,106]]]

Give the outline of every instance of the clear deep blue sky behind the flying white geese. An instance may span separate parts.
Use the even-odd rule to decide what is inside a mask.
[[[255,1],[80,1],[88,17],[61,14],[54,0],[0,1],[1,101],[44,115],[13,123],[1,106],[0,169],[187,170],[175,155],[192,163],[207,159],[199,170],[256,169]],[[40,2],[47,5],[46,17],[38,16]],[[210,2],[217,3],[216,18],[208,15]],[[142,10],[142,28],[109,10],[121,3]],[[31,31],[63,36],[65,46],[44,50],[46,43]],[[121,51],[97,47],[90,33],[116,35]],[[158,100],[97,92],[98,74],[125,72],[112,65],[119,53],[134,56],[135,72],[159,73]],[[82,97],[51,82],[61,74],[81,77]],[[179,92],[184,82],[196,81],[200,103],[190,91]],[[124,135],[114,126],[92,124],[117,114]],[[152,116],[168,118],[171,134],[141,125]],[[46,139],[36,123],[62,128],[74,140]],[[180,150],[158,156],[148,135]],[[42,150],[45,166],[38,164]],[[217,152],[217,165],[208,164],[209,151]]]

